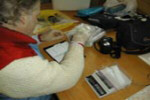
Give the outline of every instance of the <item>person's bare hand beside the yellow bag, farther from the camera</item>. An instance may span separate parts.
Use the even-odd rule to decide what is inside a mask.
[[[42,41],[52,41],[52,40],[57,40],[63,37],[64,35],[62,35],[60,31],[51,30],[51,31],[41,34],[40,39]]]

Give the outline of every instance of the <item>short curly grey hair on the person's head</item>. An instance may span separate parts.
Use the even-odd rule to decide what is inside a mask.
[[[0,24],[14,23],[22,10],[30,10],[39,0],[0,0]]]

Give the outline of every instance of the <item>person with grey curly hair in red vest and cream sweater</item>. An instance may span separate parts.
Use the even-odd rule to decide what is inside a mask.
[[[71,88],[82,74],[89,36],[74,35],[63,61],[48,62],[30,46],[39,12],[39,0],[0,0],[0,100],[48,100],[38,98]]]

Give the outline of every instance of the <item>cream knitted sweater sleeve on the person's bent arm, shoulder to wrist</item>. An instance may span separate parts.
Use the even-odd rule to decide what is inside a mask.
[[[60,92],[76,84],[83,68],[80,45],[71,45],[60,64],[38,56],[15,60],[0,71],[0,93],[26,98]]]

